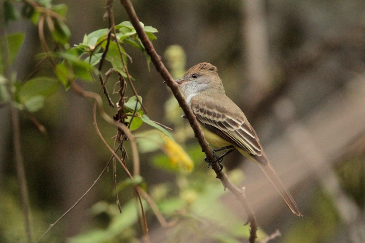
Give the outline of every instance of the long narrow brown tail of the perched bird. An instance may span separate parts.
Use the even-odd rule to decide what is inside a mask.
[[[298,205],[295,203],[292,195],[290,195],[288,189],[284,186],[283,182],[281,182],[280,178],[277,176],[274,168],[270,164],[266,154],[263,153],[262,156],[253,156],[258,165],[260,165],[262,171],[264,171],[265,175],[270,179],[271,183],[283,197],[285,203],[287,203],[290,210],[297,215],[298,217],[303,216],[298,208]]]

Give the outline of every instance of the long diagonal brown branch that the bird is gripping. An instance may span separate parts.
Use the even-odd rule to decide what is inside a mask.
[[[166,82],[167,86],[171,89],[174,97],[177,99],[181,109],[183,109],[185,117],[189,120],[189,124],[194,131],[195,137],[197,138],[199,145],[201,146],[201,150],[206,154],[207,158],[211,161],[215,161],[215,157],[213,155],[212,150],[208,146],[208,142],[205,140],[203,132],[201,131],[199,124],[195,118],[195,115],[192,113],[191,108],[189,107],[188,103],[185,101],[183,94],[180,92],[177,83],[174,81],[172,76],[170,75],[169,71],[166,69],[165,65],[161,61],[161,57],[155,51],[152,43],[150,42],[149,38],[147,37],[146,33],[143,31],[141,24],[139,23],[138,16],[134,11],[134,8],[130,2],[130,0],[120,0],[120,3],[123,5],[124,9],[126,10],[132,25],[134,26],[135,30],[137,31],[139,39],[143,46],[145,47],[147,53],[150,55],[153,64],[156,67],[156,70],[160,73],[164,81]],[[237,188],[234,184],[232,184],[228,177],[222,172],[219,171],[220,167],[218,163],[212,164],[212,169],[215,171],[217,178],[222,181],[222,184],[225,188],[228,188],[241,202],[245,212],[247,214],[247,223],[250,223],[250,243],[254,243],[255,239],[257,238],[257,222],[254,212],[252,211],[244,190]],[[246,224],[247,224],[246,223]]]

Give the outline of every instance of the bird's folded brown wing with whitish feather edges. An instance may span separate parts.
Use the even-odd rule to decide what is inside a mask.
[[[224,140],[243,149],[248,154],[261,156],[262,147],[245,115],[228,97],[197,96],[191,99],[191,108],[196,119],[205,128]]]

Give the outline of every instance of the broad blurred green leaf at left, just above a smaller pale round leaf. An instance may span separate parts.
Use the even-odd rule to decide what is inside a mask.
[[[26,100],[34,96],[47,97],[54,94],[58,89],[58,81],[48,77],[38,77],[28,80],[20,88],[18,95],[20,100]]]

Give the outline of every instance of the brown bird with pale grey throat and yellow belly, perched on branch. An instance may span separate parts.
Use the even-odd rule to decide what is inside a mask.
[[[189,68],[183,77],[175,82],[183,91],[205,139],[209,144],[218,147],[212,151],[229,149],[222,156],[216,156],[217,160],[213,162],[219,162],[222,166],[220,162],[223,156],[237,149],[243,156],[260,166],[289,209],[295,215],[303,216],[292,195],[270,164],[245,114],[227,97],[217,68],[210,63],[199,63]],[[207,162],[212,163],[212,161]]]

